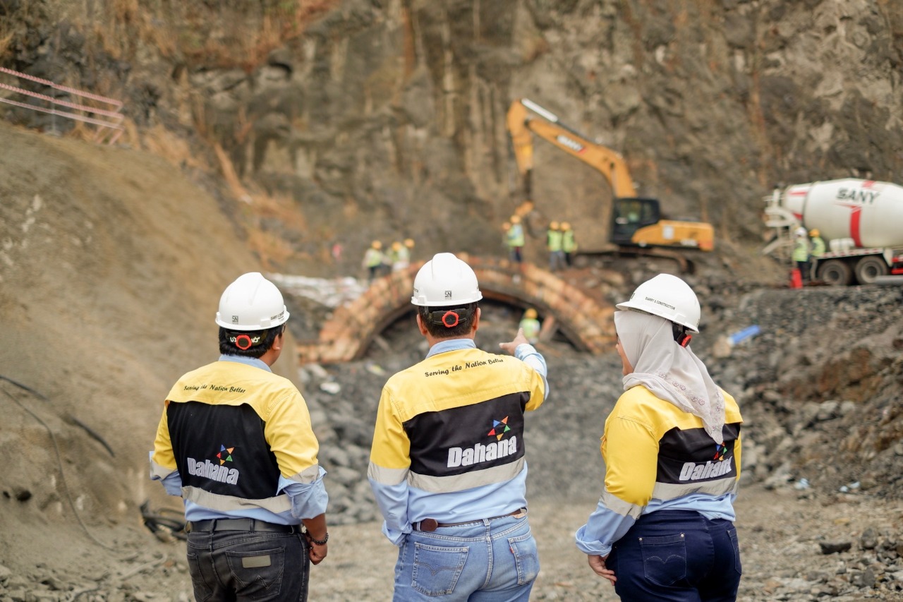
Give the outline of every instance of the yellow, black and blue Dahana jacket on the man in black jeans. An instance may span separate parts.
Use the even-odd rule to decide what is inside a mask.
[[[260,360],[222,356],[182,376],[166,396],[151,475],[182,495],[189,521],[297,524],[326,511],[318,451],[291,381]]]

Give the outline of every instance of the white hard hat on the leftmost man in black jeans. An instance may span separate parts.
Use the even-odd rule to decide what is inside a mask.
[[[260,272],[237,277],[219,297],[217,324],[242,332],[284,324],[288,311],[282,293]]]

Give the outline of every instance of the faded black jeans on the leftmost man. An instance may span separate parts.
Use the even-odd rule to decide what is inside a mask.
[[[301,533],[192,531],[188,568],[197,602],[307,599],[309,544]]]

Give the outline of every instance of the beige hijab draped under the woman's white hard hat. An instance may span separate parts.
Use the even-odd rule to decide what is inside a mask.
[[[615,312],[621,349],[633,372],[624,377],[624,390],[643,385],[657,398],[703,419],[715,443],[724,437],[724,396],[705,364],[689,347],[675,343],[671,322],[657,315]]]

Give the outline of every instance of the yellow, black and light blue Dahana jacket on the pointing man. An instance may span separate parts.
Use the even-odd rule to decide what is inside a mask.
[[[515,353],[441,341],[386,381],[368,480],[396,545],[426,518],[476,521],[526,507],[524,413],[543,403],[547,384],[533,345]]]

